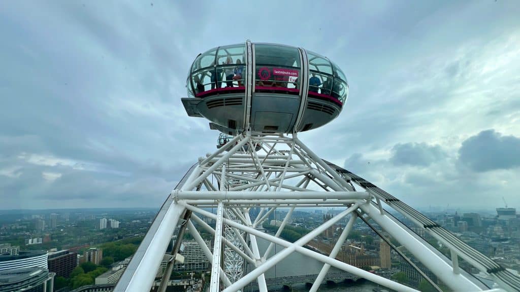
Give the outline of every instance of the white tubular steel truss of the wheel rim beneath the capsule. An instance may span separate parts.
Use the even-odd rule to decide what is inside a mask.
[[[261,149],[256,152],[255,148],[258,147]],[[449,247],[451,259],[387,213],[383,204],[394,208]],[[259,214],[251,218],[250,210],[258,207]],[[294,208],[306,207],[336,207],[342,211],[294,243],[280,238]],[[207,208],[217,208],[217,213],[209,212]],[[277,232],[272,235],[258,230],[257,227],[277,208],[289,209]],[[202,217],[214,220],[215,228]],[[350,219],[329,256],[304,247],[345,217]],[[311,291],[318,289],[330,267],[393,290],[417,291],[335,259],[356,218],[367,224],[370,224],[368,220],[378,224],[452,290],[486,291],[492,288],[493,291],[520,291],[520,279],[372,183],[321,160],[296,134],[266,136],[251,132],[245,132],[213,154],[199,158],[199,162],[190,168],[163,204],[114,291],[150,289],[154,275],[149,271],[159,267],[179,220],[181,228],[188,228],[212,265],[212,292],[242,290],[255,280],[258,289],[265,292],[265,272],[292,253],[300,253],[323,263]],[[213,249],[205,244],[195,225],[199,230],[204,229],[214,235]],[[184,229],[181,230],[184,232]],[[258,237],[270,242],[265,253],[260,253],[258,249]],[[182,240],[181,236],[177,240]],[[275,244],[284,249],[273,255],[271,251]],[[176,253],[177,250],[172,251],[172,255]],[[460,269],[459,258],[490,275],[496,287],[487,287]],[[247,274],[244,274],[245,263],[253,267]],[[168,270],[167,267],[167,271],[163,282],[170,276],[171,268]],[[424,273],[422,275],[425,276]],[[435,283],[427,280],[438,289]],[[165,287],[161,286],[161,289]]]

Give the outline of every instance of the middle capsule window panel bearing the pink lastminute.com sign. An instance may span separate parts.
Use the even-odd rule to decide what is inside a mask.
[[[300,93],[300,51],[294,47],[255,44],[255,91]]]

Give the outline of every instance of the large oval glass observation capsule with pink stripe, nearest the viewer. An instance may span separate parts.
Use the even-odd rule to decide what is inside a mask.
[[[345,74],[328,58],[250,41],[197,56],[186,87],[188,115],[205,117],[228,135],[318,128],[340,114],[348,95]]]

